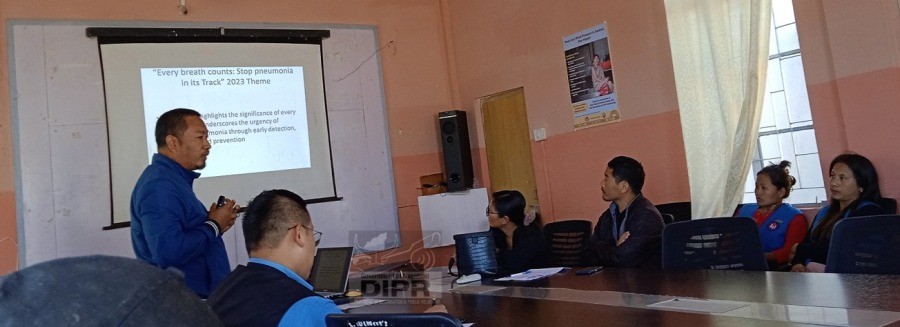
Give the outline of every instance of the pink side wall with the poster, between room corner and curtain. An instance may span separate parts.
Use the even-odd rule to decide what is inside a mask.
[[[603,171],[617,155],[644,164],[652,201],[690,199],[662,1],[451,1],[449,8],[459,102],[477,113],[478,98],[524,87],[529,127],[547,129],[546,140],[532,142],[545,222],[595,221],[608,207]],[[574,131],[562,38],[604,21],[622,121]]]

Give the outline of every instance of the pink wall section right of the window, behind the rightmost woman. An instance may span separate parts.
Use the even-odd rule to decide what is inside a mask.
[[[900,6],[895,0],[794,1],[822,171],[853,151],[900,197]]]

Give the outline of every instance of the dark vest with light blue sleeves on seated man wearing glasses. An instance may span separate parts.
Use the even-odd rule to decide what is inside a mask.
[[[226,326],[325,326],[341,313],[333,301],[312,291],[300,275],[273,261],[251,258],[238,266],[209,297]]]

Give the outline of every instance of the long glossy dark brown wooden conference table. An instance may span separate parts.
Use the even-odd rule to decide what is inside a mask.
[[[607,268],[590,276],[570,270],[531,282],[482,280],[482,286],[452,285],[453,290],[450,280],[432,280],[431,295],[475,326],[900,326],[896,276]],[[413,298],[349,312],[421,312],[430,304]],[[740,308],[650,306],[675,298],[687,301],[676,303]]]

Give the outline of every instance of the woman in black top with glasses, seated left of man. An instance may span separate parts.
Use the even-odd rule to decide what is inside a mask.
[[[534,212],[525,212],[525,197],[519,191],[494,192],[485,214],[497,246],[501,274],[540,268],[548,253]]]

